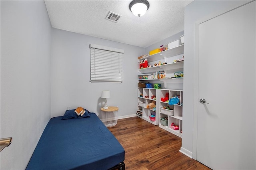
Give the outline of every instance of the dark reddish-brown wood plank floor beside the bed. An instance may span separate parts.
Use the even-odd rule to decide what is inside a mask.
[[[210,170],[179,152],[181,138],[139,117],[108,128],[125,150],[126,170]]]

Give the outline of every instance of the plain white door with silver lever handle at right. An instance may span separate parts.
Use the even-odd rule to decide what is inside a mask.
[[[199,25],[196,154],[212,169],[256,169],[255,6]]]

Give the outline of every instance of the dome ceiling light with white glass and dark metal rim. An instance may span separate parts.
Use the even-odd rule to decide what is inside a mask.
[[[146,0],[133,0],[130,5],[129,9],[135,16],[143,16],[146,14],[149,8],[149,3]]]

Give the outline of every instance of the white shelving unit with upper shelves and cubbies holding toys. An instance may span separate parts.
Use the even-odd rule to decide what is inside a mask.
[[[181,59],[184,53],[184,45],[179,45],[172,49],[162,51],[147,57],[143,57],[140,60],[148,59],[149,65],[154,65],[154,63],[166,63],[163,65],[157,65],[153,67],[138,69],[138,76],[142,75],[153,75],[156,71],[164,71],[166,77],[163,79],[138,79],[139,83],[154,83],[161,84],[161,89],[154,88],[143,88],[138,87],[138,106],[137,110],[142,112],[142,119],[152,123],[153,125],[158,125],[160,128],[167,130],[179,137],[182,137],[182,104],[183,104],[183,77],[174,78],[174,73],[176,71],[183,72],[184,61],[174,62],[174,60]],[[175,86],[175,84],[178,84]],[[167,87],[170,87],[167,89]],[[161,98],[165,97],[166,93],[169,93],[169,99],[172,96],[179,96],[180,103],[178,105],[169,105],[168,102],[162,102]],[[145,97],[146,96],[146,97]],[[155,96],[156,99],[151,99],[151,96]],[[147,98],[148,97],[148,98]],[[148,109],[147,105],[154,102],[156,109]],[[164,109],[163,107],[169,107],[169,109]],[[150,115],[155,115],[156,121],[150,120]],[[168,118],[168,120],[162,120],[161,118]],[[179,126],[178,130],[172,130],[171,124]]]

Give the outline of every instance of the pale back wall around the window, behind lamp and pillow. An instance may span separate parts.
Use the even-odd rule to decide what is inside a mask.
[[[90,82],[89,44],[124,49],[123,82]],[[144,48],[64,30],[52,29],[52,117],[62,116],[67,107],[84,107],[99,113],[104,102],[102,90],[110,90],[109,106],[118,106],[118,117],[136,115],[138,56]]]

